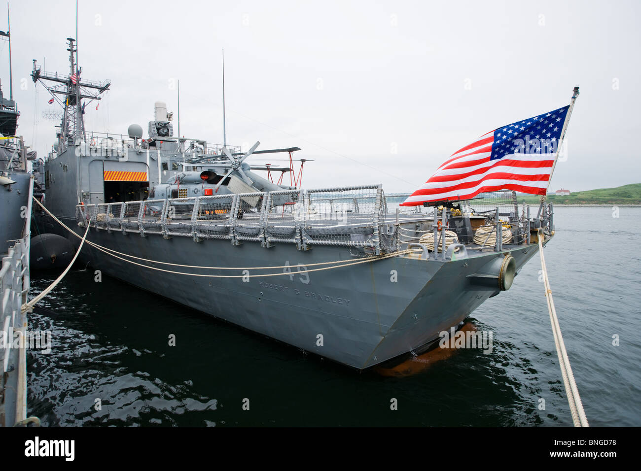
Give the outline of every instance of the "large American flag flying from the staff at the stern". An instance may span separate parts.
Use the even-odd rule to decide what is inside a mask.
[[[401,206],[497,190],[544,195],[570,106],[494,129],[452,154]]]

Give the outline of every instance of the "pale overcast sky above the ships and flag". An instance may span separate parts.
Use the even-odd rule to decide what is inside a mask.
[[[29,78],[32,59],[69,73],[74,0],[12,1],[18,133],[39,155],[58,111]],[[83,79],[112,81],[87,129],[147,131],[155,101],[181,135],[298,146],[304,187],[383,183],[412,192],[478,136],[568,104],[568,157],[551,190],[641,183],[638,1],[79,1]],[[6,12],[0,13],[6,28]],[[8,45],[0,44],[3,92]],[[176,131],[176,122],[174,122]],[[287,154],[280,157],[285,158]],[[250,158],[256,163],[279,162]],[[282,163],[282,162],[280,162]]]

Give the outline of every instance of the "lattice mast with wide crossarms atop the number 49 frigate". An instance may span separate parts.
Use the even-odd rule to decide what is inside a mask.
[[[86,142],[84,108],[88,103],[102,99],[101,95],[111,85],[108,80],[97,82],[81,79],[82,68],[78,67],[78,47],[74,42],[76,42],[74,38],[67,38],[67,45],[69,46],[67,47],[67,51],[69,51],[69,76],[42,72],[35,59],[33,60],[33,70],[31,72],[33,83],[40,81],[63,108],[60,131],[58,132],[58,153],[61,153],[70,145]],[[83,100],[85,100],[84,103]]]

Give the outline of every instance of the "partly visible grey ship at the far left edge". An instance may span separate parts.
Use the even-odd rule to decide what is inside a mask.
[[[0,426],[12,427],[26,420],[27,313],[22,306],[29,291],[29,246],[31,195],[34,178],[29,161],[37,155],[29,151],[17,135],[18,111],[13,100],[10,29],[0,31],[9,41],[9,97],[0,85]]]

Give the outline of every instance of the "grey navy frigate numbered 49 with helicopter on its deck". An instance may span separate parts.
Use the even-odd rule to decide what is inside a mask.
[[[146,137],[90,131],[110,83],[80,76],[68,40],[69,75],[31,73],[63,108],[37,226],[74,247],[86,234],[84,261],[159,297],[362,370],[435,345],[554,234],[552,205],[530,213],[512,191],[406,211],[378,184],[275,183],[248,159],[298,147],[174,135],[163,102]]]

